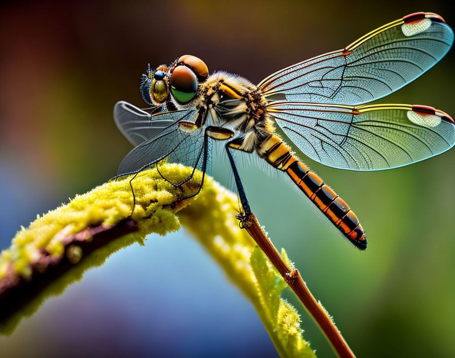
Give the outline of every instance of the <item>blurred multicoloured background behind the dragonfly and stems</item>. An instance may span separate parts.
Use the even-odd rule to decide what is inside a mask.
[[[416,11],[455,24],[448,5],[419,0],[3,2],[0,249],[20,225],[116,173],[131,146],[112,108],[118,100],[145,107],[139,81],[148,63],[188,53],[211,72],[258,83]],[[380,101],[455,115],[454,58],[452,50]],[[222,167],[222,160],[214,162]],[[454,160],[451,150],[366,173],[306,160],[361,219],[366,252],[318,219],[279,177],[241,169],[259,221],[359,357],[455,356]],[[226,184],[228,176],[215,178]],[[304,337],[317,355],[333,357],[293,293],[284,296],[302,313]],[[184,229],[117,252],[23,319],[13,335],[0,337],[0,349],[2,357],[277,356],[253,307]]]

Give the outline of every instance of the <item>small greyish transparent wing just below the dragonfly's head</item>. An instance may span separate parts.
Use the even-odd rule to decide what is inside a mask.
[[[171,124],[185,119],[183,117],[185,113],[188,111],[169,112],[161,106],[156,107],[150,114],[131,103],[119,101],[114,105],[114,122],[129,142],[139,145]]]

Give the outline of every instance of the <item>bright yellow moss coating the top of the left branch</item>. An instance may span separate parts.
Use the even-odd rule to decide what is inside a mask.
[[[160,170],[174,180],[191,173],[191,169],[178,164],[163,164]],[[154,229],[156,231],[153,232],[165,234],[179,228],[175,216],[168,213],[174,212],[170,205],[184,196],[180,189],[165,182],[156,169],[140,173],[133,185],[136,207],[132,219],[138,223],[143,236]],[[186,200],[185,204],[189,201]],[[77,195],[68,204],[38,217],[27,229],[20,230],[13,238],[11,247],[2,252],[0,267],[10,261],[15,266],[16,274],[28,278],[30,272],[27,264],[37,250],[46,250],[54,256],[60,256],[63,254],[60,241],[64,237],[90,226],[115,225],[131,214],[132,206],[133,197],[128,180],[106,183],[86,194]],[[165,211],[158,211],[164,207]],[[153,217],[153,220],[144,220],[156,211],[159,215]],[[0,279],[5,274],[0,272]]]

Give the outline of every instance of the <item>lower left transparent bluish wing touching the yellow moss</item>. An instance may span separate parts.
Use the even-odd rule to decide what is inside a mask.
[[[197,113],[196,108],[180,111],[179,120],[133,148],[120,163],[117,174],[135,172],[163,159],[202,170],[204,158],[206,173],[210,174],[210,143],[204,140],[205,127],[189,132],[179,126],[180,120],[193,121]]]

